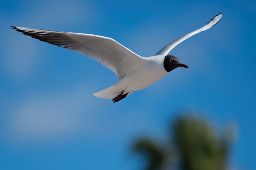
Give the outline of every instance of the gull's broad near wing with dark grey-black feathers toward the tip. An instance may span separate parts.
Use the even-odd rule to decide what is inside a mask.
[[[118,78],[135,71],[145,62],[143,57],[133,53],[112,38],[83,33],[29,29],[18,26],[11,26],[11,28],[40,41],[63,46],[65,49],[93,58],[116,73]]]

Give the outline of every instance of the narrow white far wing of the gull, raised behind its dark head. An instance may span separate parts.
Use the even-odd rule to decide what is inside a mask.
[[[180,38],[177,38],[176,40],[174,40],[173,42],[171,42],[170,44],[168,44],[164,48],[162,48],[160,51],[158,51],[158,53],[156,53],[156,55],[167,55],[175,46],[177,46],[184,40],[190,38],[191,36],[193,36],[197,33],[205,31],[205,30],[211,28],[213,25],[217,24],[220,21],[221,16],[222,16],[222,14],[219,13],[213,19],[211,19],[206,25],[204,25],[202,28],[192,31],[191,33],[188,33],[186,35],[183,35]]]

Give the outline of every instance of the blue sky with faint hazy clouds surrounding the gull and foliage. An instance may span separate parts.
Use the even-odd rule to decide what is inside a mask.
[[[237,128],[229,167],[256,169],[256,2],[2,0],[0,170],[140,170],[139,137],[167,139],[191,111],[217,130]],[[10,26],[91,33],[148,57],[222,12],[211,29],[176,46],[177,68],[118,103],[92,94],[115,84],[98,62]]]

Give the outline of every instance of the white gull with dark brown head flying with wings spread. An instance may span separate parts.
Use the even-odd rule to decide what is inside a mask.
[[[93,94],[102,99],[112,99],[115,103],[132,94],[133,91],[148,87],[177,67],[189,68],[177,57],[168,55],[168,53],[184,40],[217,24],[221,17],[222,14],[219,13],[200,29],[177,38],[151,57],[141,57],[114,39],[99,35],[18,26],[11,26],[11,28],[40,41],[93,58],[116,73],[117,78],[120,79],[119,82]]]

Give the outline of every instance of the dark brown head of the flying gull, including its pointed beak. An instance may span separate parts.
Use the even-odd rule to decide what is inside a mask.
[[[174,57],[173,55],[166,55],[164,57],[164,69],[167,72],[170,72],[177,67],[189,68],[187,65],[182,64],[180,60],[177,57]]]

